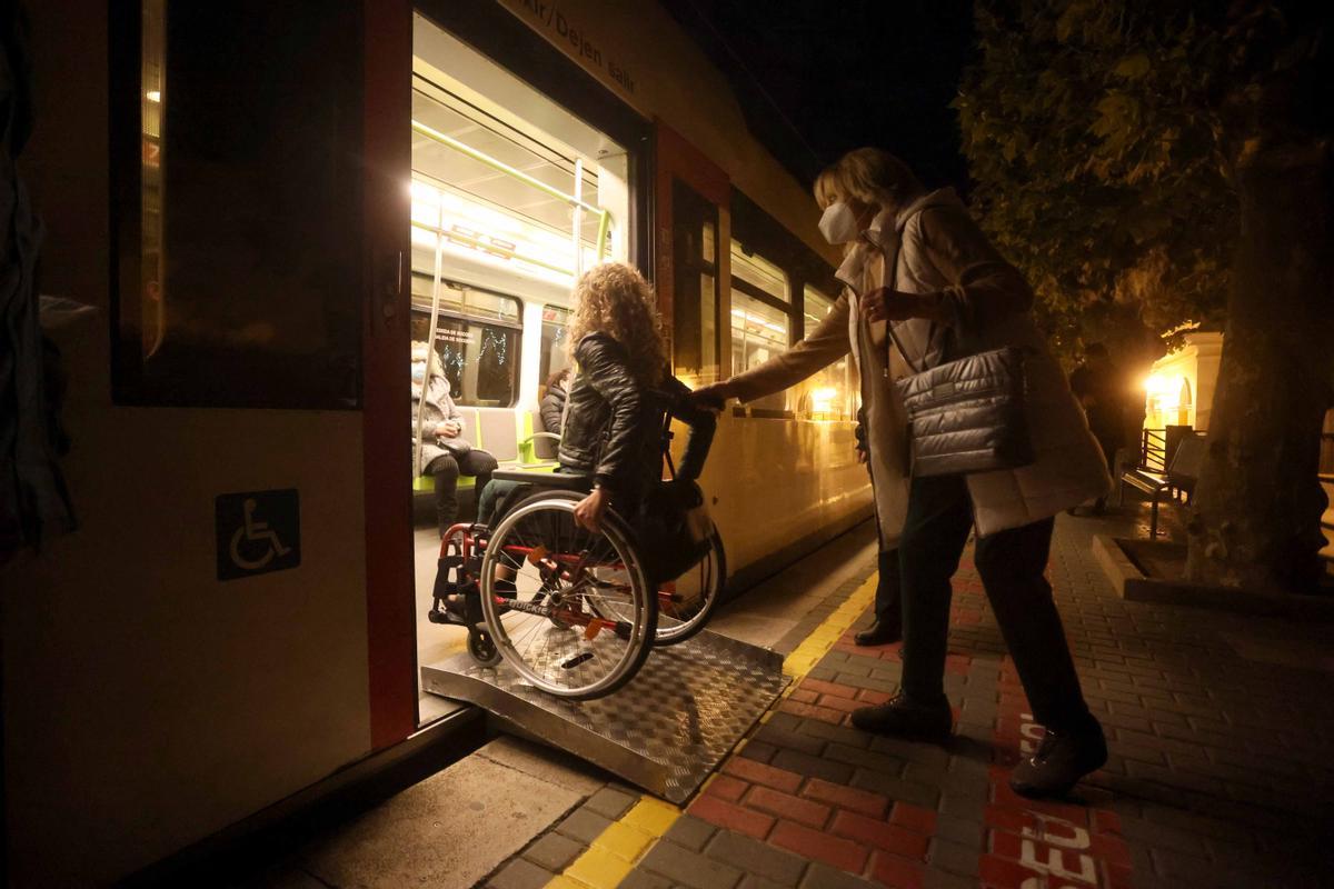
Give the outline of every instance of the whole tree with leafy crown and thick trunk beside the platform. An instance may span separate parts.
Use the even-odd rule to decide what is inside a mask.
[[[1334,383],[1321,5],[979,0],[955,101],[983,224],[1058,349],[1127,319],[1169,344],[1226,319],[1187,529],[1202,582],[1306,589],[1318,570]]]

